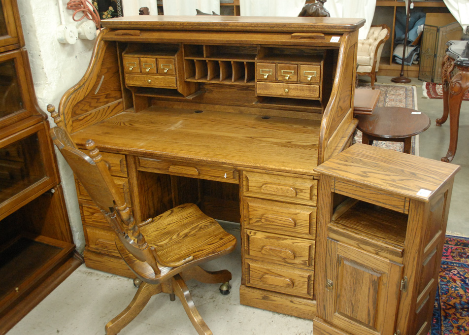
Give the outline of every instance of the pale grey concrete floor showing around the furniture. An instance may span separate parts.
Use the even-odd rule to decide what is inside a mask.
[[[366,77],[361,79],[366,80]],[[378,77],[378,83],[390,84],[390,77]],[[432,120],[432,126],[420,134],[419,154],[439,160],[446,154],[449,143],[449,122],[435,126],[441,117],[442,100],[425,99],[422,82],[417,86],[418,109]],[[452,164],[462,168],[456,176],[448,220],[449,234],[469,235],[469,101],[461,107],[459,147]],[[225,229],[239,240],[239,227],[225,224]],[[194,302],[214,334],[218,335],[312,335],[312,322],[239,304],[240,254],[236,251],[205,266],[208,270],[227,268],[233,273],[232,292],[218,293],[216,284],[189,281]],[[104,325],[120,313],[135,294],[132,281],[100,271],[78,268],[52,294],[21,320],[8,335],[102,335]],[[176,299],[160,294],[120,334],[189,335],[197,334]]]

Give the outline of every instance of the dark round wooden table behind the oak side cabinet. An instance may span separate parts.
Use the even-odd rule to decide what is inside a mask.
[[[403,142],[403,152],[410,154],[412,136],[430,127],[427,115],[403,107],[378,107],[370,115],[357,115],[358,130],[363,133],[362,143],[377,141]]]

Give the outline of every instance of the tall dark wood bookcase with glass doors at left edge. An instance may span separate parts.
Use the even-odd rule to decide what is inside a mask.
[[[14,0],[0,7],[0,334],[81,261]]]

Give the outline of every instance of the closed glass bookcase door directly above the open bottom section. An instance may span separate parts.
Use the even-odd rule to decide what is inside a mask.
[[[44,122],[0,139],[0,220],[57,181]]]

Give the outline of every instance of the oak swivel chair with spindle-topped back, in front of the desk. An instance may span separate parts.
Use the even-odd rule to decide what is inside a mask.
[[[53,107],[48,107],[48,110],[53,112],[54,120],[60,124]],[[199,265],[232,252],[236,238],[193,203],[176,206],[136,224],[95,143],[87,141],[87,156],[78,150],[64,129],[52,128],[51,136],[115,231],[119,253],[141,281],[138,283],[137,280],[139,287],[129,306],[107,323],[106,334],[119,333],[153,295],[161,292],[169,293],[171,301],[175,300],[175,295],[180,299],[198,334],[212,334],[194,306],[184,280],[194,278],[203,283],[225,283],[220,291],[228,294],[227,282],[231,280],[231,273],[228,270],[205,271]]]

